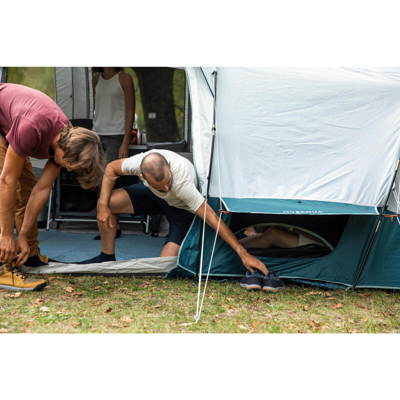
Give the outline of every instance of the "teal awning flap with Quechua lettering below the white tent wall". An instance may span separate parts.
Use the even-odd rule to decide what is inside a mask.
[[[228,211],[266,214],[379,214],[376,207],[331,201],[223,197]]]

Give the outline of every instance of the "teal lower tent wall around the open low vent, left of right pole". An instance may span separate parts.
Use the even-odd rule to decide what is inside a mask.
[[[214,210],[219,208],[219,200],[215,197],[210,197],[208,204]],[[222,219],[227,226],[230,226],[231,216],[232,213],[222,215]],[[333,251],[323,257],[277,258],[260,256],[259,259],[268,268],[274,268],[282,277],[325,281],[351,286],[376,220],[376,215],[351,215],[339,243]],[[168,277],[192,277],[195,275],[197,257],[199,255],[198,243],[201,222],[201,218],[195,217],[192,227],[181,245],[177,266],[169,272]],[[214,237],[215,232],[206,225],[203,271],[208,268]],[[240,277],[244,273],[245,268],[238,255],[218,237],[215,243],[210,276]],[[360,282],[360,284],[362,283]]]

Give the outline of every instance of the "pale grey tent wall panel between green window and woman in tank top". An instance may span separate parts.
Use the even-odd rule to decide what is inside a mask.
[[[55,98],[69,119],[93,118],[91,72],[87,67],[55,67]]]

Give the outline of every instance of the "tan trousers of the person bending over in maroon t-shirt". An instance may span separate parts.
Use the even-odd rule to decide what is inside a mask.
[[[4,136],[0,135],[0,173],[3,169],[5,153],[7,151],[8,143]],[[29,157],[25,158],[25,163],[23,164],[22,173],[16,182],[16,197],[15,197],[15,227],[16,232],[22,227],[23,217],[25,215],[26,203],[28,202],[30,192],[33,186],[36,184],[36,176],[33,173],[32,164],[30,163]],[[28,244],[29,244],[29,257],[36,255],[39,252],[37,240],[37,223],[34,223],[28,234]]]

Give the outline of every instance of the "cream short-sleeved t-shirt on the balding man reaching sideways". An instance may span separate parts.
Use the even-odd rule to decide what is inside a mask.
[[[155,190],[147,181],[140,177],[140,162],[148,154],[156,152],[171,163],[172,183],[166,193]],[[193,164],[186,158],[173,151],[153,149],[133,155],[122,162],[122,173],[139,176],[141,181],[157,196],[164,199],[169,205],[183,208],[191,212],[197,211],[204,202],[204,197],[198,191],[196,172]]]

